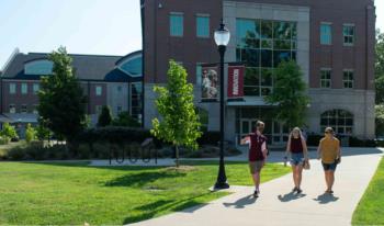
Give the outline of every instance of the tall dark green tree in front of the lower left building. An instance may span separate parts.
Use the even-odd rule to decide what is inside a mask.
[[[66,48],[54,50],[48,59],[54,63],[53,75],[41,79],[38,114],[57,137],[70,144],[86,126],[87,99]]]

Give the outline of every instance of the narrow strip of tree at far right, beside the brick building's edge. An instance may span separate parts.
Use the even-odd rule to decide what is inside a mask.
[[[376,31],[375,46],[376,104],[384,103],[384,33]]]

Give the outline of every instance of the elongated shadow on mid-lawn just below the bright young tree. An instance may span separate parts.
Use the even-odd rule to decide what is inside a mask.
[[[126,174],[105,182],[105,187],[143,187],[158,179],[185,177],[184,172],[149,171],[134,174]]]

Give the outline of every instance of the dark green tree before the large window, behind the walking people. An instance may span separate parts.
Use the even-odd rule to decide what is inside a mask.
[[[306,94],[303,72],[294,60],[282,61],[275,69],[273,92],[264,98],[276,104],[276,118],[289,127],[303,126],[309,98]]]

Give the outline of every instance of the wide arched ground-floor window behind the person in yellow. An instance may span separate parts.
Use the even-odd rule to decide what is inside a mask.
[[[337,134],[351,135],[353,132],[353,115],[345,110],[330,110],[321,114],[320,127],[332,127]]]

